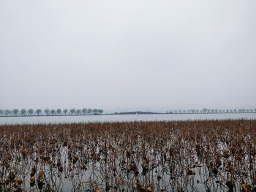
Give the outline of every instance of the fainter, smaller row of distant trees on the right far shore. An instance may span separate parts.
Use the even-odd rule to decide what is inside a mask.
[[[235,109],[235,110],[218,110],[218,109],[207,109],[202,110],[169,110],[166,113],[245,113],[245,112],[256,112],[256,109]]]

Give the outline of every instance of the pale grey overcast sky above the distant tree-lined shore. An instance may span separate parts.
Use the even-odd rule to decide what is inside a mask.
[[[1,0],[0,108],[256,107],[255,0]]]

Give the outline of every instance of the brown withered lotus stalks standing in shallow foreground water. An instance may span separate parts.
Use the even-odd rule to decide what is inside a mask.
[[[0,191],[256,191],[256,120],[0,126]]]

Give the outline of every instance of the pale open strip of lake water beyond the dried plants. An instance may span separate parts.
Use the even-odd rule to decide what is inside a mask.
[[[219,114],[150,114],[150,115],[80,115],[80,116],[33,116],[0,117],[0,124],[24,123],[86,123],[86,122],[126,122],[135,120],[222,120],[256,119],[256,113],[219,113]]]

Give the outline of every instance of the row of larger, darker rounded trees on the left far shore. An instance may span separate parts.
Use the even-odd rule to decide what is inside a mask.
[[[14,110],[0,110],[0,116],[32,116],[32,115],[99,115],[102,114],[103,110],[101,109],[45,109],[45,110],[41,110],[41,109],[22,109],[22,110],[18,110],[18,109],[14,109]]]

